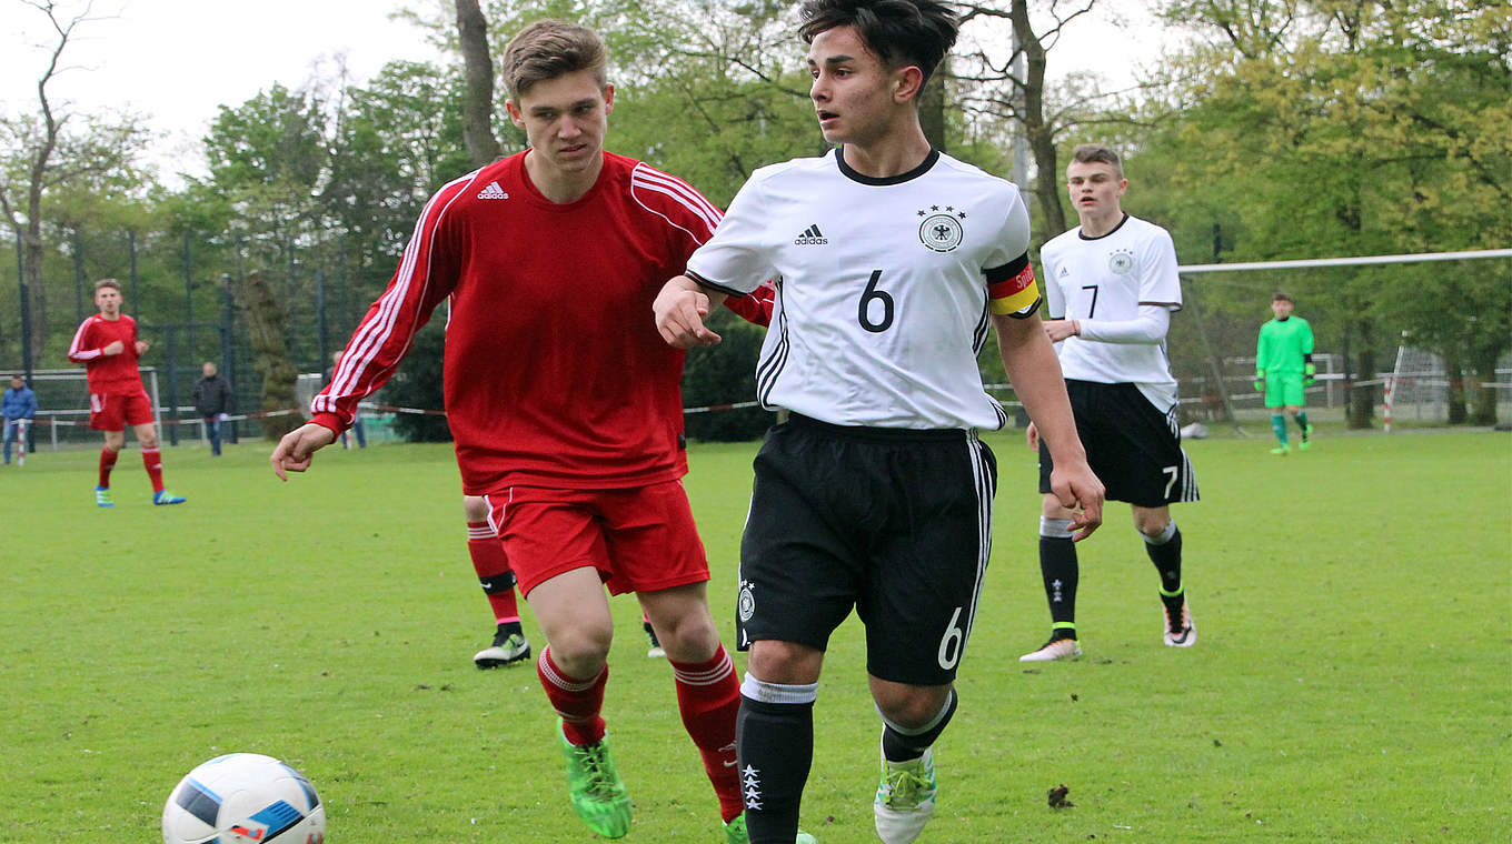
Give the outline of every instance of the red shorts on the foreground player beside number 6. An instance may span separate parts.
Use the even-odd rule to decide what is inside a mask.
[[[484,497],[520,595],[584,566],[611,595],[709,580],[682,482],[631,489],[513,486]]]

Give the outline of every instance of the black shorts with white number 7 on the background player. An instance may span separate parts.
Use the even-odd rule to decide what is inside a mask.
[[[1198,500],[1198,479],[1181,448],[1176,408],[1160,412],[1132,383],[1066,380],[1077,435],[1110,501],[1164,507]],[[1040,442],[1040,492],[1049,492],[1049,450]]]

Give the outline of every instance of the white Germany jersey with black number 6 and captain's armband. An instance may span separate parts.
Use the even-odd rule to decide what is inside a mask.
[[[1030,217],[1019,189],[930,152],[872,178],[836,151],[758,169],[688,275],[730,294],[777,279],[762,406],[832,424],[998,429],[977,353],[990,313],[1030,316]]]

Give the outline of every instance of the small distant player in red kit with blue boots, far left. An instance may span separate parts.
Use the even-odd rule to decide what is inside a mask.
[[[115,506],[110,470],[125,445],[125,426],[136,432],[136,444],[142,448],[142,464],[153,482],[153,504],[183,504],[183,495],[163,489],[163,454],[153,427],[153,403],[136,368],[136,361],[147,352],[147,341],[138,340],[136,320],[121,313],[121,302],[119,281],[97,281],[95,305],[100,313],[79,326],[68,346],[68,359],[83,364],[89,380],[89,427],[104,432],[95,504]]]

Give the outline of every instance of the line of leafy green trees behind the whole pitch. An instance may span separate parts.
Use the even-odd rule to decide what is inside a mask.
[[[290,267],[340,273],[360,302],[381,293],[425,199],[523,146],[491,59],[540,17],[588,23],[609,42],[617,107],[608,148],[686,178],[717,204],[754,168],[824,149],[792,35],[795,3],[416,0],[402,17],[454,59],[392,62],[361,82],[337,74],[269,85],[219,107],[200,145],[204,175],[165,180],[144,165],[145,116],[74,113],[50,94],[59,68],[88,53],[80,32],[109,21],[88,3],[3,2],[45,15],[56,33],[36,100],[0,115],[0,211],[18,254],[18,284],[0,288],[8,368],[27,362],[23,349],[42,365],[67,365],[76,276],[122,275],[125,254],[95,248],[94,266],[80,267],[77,243],[129,236],[144,279],[132,308],[177,313],[197,285],[210,302],[222,278],[234,278],[237,314],[257,337],[260,400],[290,400],[293,373],[310,361],[289,359],[283,329],[295,328],[290,310],[316,296],[313,273]],[[1075,225],[1061,183],[1064,154],[1083,140],[1123,151],[1132,183],[1125,205],[1169,228],[1184,263],[1512,243],[1506,3],[1163,0],[1148,26],[1179,35],[1181,47],[1149,56],[1131,36],[1128,60],[1146,68],[1136,88],[1110,91],[1086,74],[1048,82],[1069,60],[1063,38],[1099,2],[1110,0],[957,5],[963,36],[921,106],[931,140],[953,156],[1002,175],[1024,171],[1036,246]],[[183,266],[184,242],[195,267]],[[1364,377],[1390,364],[1403,331],[1441,355],[1459,385],[1495,380],[1497,359],[1512,350],[1507,261],[1194,284],[1214,329],[1235,334],[1232,349],[1264,320],[1270,290],[1287,288],[1312,311],[1320,346],[1347,350],[1350,371]],[[334,343],[352,319],[325,328]],[[727,349],[689,358],[691,405],[750,393],[742,373],[759,331],[733,331]],[[1178,373],[1204,368],[1196,344],[1173,346]],[[428,328],[393,385],[404,399],[395,403],[440,406],[431,376],[440,349]],[[989,380],[1001,379],[992,367]],[[1359,391],[1352,421],[1368,426],[1370,408]],[[715,417],[696,424],[711,436],[764,424],[759,414]],[[1459,387],[1452,418],[1494,421],[1494,391]],[[445,435],[426,424],[411,433]]]

